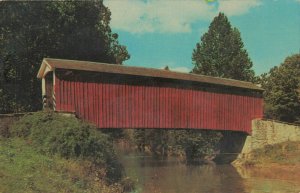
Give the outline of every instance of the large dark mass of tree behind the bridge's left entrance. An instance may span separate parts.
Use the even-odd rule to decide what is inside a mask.
[[[36,74],[44,57],[122,64],[126,47],[98,1],[0,2],[0,89],[9,111],[41,108]],[[6,107],[7,109],[7,107]],[[0,104],[0,112],[3,111]]]

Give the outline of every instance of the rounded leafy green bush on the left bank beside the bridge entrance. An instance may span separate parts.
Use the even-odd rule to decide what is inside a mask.
[[[107,181],[122,177],[109,136],[75,117],[66,117],[52,111],[25,115],[11,128],[12,136],[28,139],[45,154],[91,161],[96,167],[106,168]]]

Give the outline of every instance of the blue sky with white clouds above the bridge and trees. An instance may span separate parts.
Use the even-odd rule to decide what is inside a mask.
[[[300,0],[105,0],[129,66],[189,72],[192,53],[219,12],[241,32],[256,75],[300,53]]]

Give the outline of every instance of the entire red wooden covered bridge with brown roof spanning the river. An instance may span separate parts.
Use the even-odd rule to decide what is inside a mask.
[[[44,107],[74,112],[99,128],[251,132],[262,89],[249,82],[167,70],[45,58]]]

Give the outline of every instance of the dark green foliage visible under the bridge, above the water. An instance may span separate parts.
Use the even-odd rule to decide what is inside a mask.
[[[136,129],[133,138],[140,151],[148,148],[153,155],[162,157],[184,154],[190,164],[214,158],[222,134],[193,129]]]

